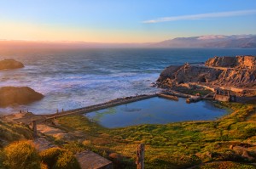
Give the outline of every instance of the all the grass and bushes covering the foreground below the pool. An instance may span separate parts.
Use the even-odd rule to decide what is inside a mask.
[[[59,140],[60,148],[40,153],[30,141],[32,131],[0,121],[0,168],[79,168],[75,154],[90,149],[113,161],[114,168],[135,168],[138,144],[145,144],[145,168],[253,168],[256,162],[256,105],[220,103],[230,114],[216,121],[105,128],[84,115],[63,116],[61,130],[84,138]],[[12,143],[13,142],[13,143]],[[12,144],[9,144],[12,143]],[[9,145],[8,145],[9,144]],[[238,149],[239,148],[239,149]]]

